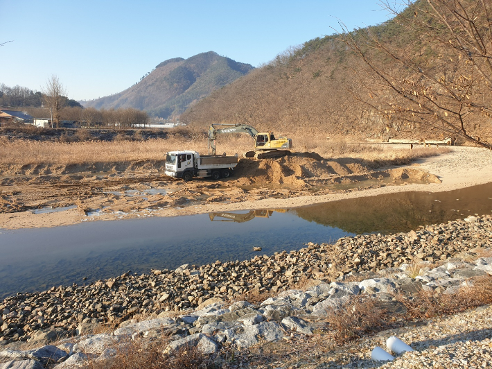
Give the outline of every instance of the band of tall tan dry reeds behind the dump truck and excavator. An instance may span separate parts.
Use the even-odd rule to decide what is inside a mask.
[[[135,140],[136,138],[136,140]],[[0,164],[82,164],[92,162],[133,162],[138,160],[163,160],[164,154],[173,150],[193,150],[206,154],[207,139],[204,132],[171,130],[166,139],[130,137],[121,132],[114,141],[85,141],[87,132],[60,141],[8,140],[0,137]],[[350,144],[344,139],[309,139],[292,137],[295,151],[315,151],[323,157],[358,157],[374,163],[408,164],[418,157],[444,153],[447,148],[383,148],[380,145]],[[242,155],[252,150],[254,141],[248,135],[223,135],[217,139],[217,152]]]

